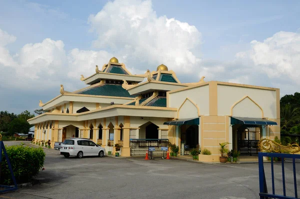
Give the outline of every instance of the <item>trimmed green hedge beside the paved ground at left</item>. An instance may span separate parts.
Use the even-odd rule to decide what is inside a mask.
[[[5,149],[10,160],[16,183],[27,182],[41,170],[46,155],[42,148],[13,145],[5,146]],[[9,185],[13,183],[3,152],[0,177],[1,184]]]

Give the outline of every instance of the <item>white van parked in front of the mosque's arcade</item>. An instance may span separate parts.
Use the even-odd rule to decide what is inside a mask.
[[[67,138],[60,144],[60,154],[64,157],[99,156],[105,155],[105,148],[87,138]]]

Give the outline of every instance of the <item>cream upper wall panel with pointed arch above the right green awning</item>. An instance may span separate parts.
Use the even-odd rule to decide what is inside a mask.
[[[277,118],[276,115],[276,91],[259,88],[239,87],[233,85],[217,85],[217,114],[218,115],[230,115],[231,106],[236,102],[244,98],[250,97],[255,101],[263,110],[263,116],[268,118]],[[246,100],[243,103],[249,104]],[[241,106],[239,106],[242,108]],[[253,107],[253,105],[251,105]],[[240,114],[243,110],[237,112]],[[249,115],[256,115],[257,108],[249,111]],[[245,113],[246,114],[246,113]]]

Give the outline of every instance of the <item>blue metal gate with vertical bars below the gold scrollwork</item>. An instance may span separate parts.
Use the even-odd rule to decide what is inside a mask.
[[[264,174],[264,167],[263,167],[263,157],[271,157],[272,193],[267,192],[266,180],[265,180],[265,174]],[[277,158],[281,159],[283,195],[275,194],[273,157],[277,157]],[[293,182],[294,182],[294,195],[295,195],[295,197],[286,196],[284,158],[291,158],[292,159],[292,170],[293,170]],[[279,199],[289,198],[289,199],[291,199],[291,198],[298,198],[295,159],[300,159],[300,154],[258,152],[259,196],[260,196],[260,199],[268,199],[268,198],[279,198]]]

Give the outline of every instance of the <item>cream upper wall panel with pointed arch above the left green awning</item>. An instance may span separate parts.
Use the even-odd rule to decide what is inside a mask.
[[[199,87],[194,87],[190,89],[181,90],[178,92],[170,92],[168,94],[168,107],[179,108],[183,102],[185,107],[192,109],[192,114],[194,115],[194,105],[192,106],[190,101],[196,104],[199,108],[199,113],[201,115],[209,115],[209,86],[203,85]],[[190,101],[185,100],[188,98]],[[184,110],[181,114],[186,116],[189,110]],[[183,118],[180,116],[180,118]]]

